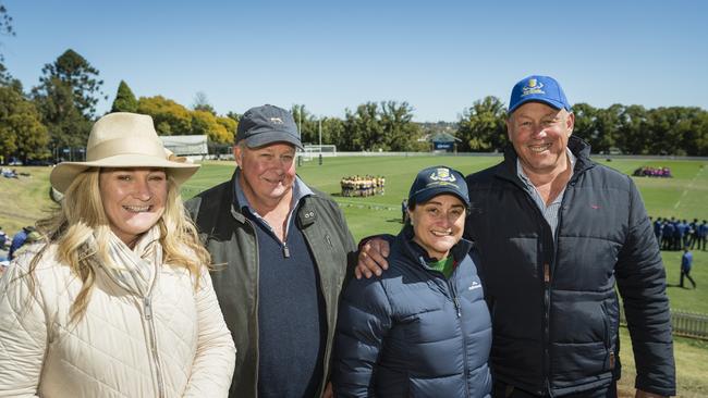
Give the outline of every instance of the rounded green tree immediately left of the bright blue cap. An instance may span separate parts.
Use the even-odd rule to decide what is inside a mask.
[[[460,150],[490,152],[501,150],[506,137],[506,109],[497,97],[485,97],[464,110],[456,137],[462,140]]]

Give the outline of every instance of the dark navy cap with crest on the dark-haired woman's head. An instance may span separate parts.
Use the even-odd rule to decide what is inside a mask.
[[[408,206],[425,203],[442,194],[454,195],[465,207],[469,207],[465,177],[459,171],[442,165],[423,169],[418,173],[408,192]]]

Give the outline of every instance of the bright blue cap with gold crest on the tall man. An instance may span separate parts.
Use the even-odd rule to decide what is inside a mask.
[[[561,85],[550,76],[533,75],[521,79],[511,89],[509,114],[526,102],[542,102],[556,109],[571,111]]]

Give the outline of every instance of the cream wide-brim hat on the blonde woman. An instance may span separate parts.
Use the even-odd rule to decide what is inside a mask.
[[[49,182],[63,194],[78,174],[90,167],[160,167],[181,185],[197,172],[199,165],[164,149],[152,117],[115,112],[94,124],[86,145],[86,161],[57,164]]]

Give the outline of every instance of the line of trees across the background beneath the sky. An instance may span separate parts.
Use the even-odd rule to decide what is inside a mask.
[[[12,18],[0,4],[0,33],[14,35]],[[65,159],[66,148],[86,144],[99,116],[103,82],[84,57],[68,49],[45,64],[37,86],[25,90],[0,54],[0,159]],[[111,112],[149,114],[160,135],[207,135],[212,146],[233,142],[240,113],[219,115],[204,92],[187,108],[162,96],[136,98],[121,80]],[[486,97],[464,109],[454,123],[416,123],[403,101],[369,101],[346,109],[343,119],[317,117],[303,104],[291,111],[303,142],[335,145],[340,151],[427,151],[427,137],[444,129],[461,152],[495,152],[508,145],[506,108]],[[595,153],[708,156],[708,112],[700,108],[613,104],[607,109],[576,103],[574,134]]]

